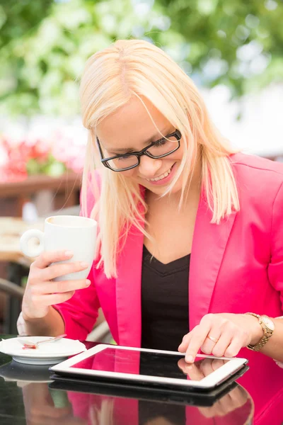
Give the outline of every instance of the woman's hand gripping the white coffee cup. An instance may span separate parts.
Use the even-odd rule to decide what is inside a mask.
[[[67,301],[74,295],[75,290],[87,288],[90,285],[91,282],[87,279],[52,281],[64,274],[88,268],[88,263],[56,264],[57,261],[69,260],[72,255],[69,251],[44,252],[31,264],[23,296],[23,319],[45,317],[50,305]]]

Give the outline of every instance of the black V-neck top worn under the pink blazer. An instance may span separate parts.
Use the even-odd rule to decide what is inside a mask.
[[[190,254],[163,264],[144,246],[141,271],[141,347],[177,351],[189,331]]]

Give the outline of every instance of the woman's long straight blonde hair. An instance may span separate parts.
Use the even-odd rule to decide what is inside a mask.
[[[180,203],[183,202],[199,153],[202,188],[212,210],[212,223],[218,224],[233,210],[239,210],[236,181],[229,161],[229,155],[236,151],[212,125],[195,84],[171,57],[150,42],[118,40],[88,59],[80,88],[83,125],[88,129],[82,210],[89,215],[91,207],[91,217],[98,220],[98,266],[103,265],[108,278],[117,276],[117,255],[130,227],[134,225],[146,234],[146,203],[137,183],[101,165],[96,126],[133,96],[143,104],[142,98],[148,99],[181,132],[183,159],[166,193],[183,173]],[[99,199],[92,179],[95,166],[100,167],[102,173]],[[97,199],[94,207],[87,205],[88,190],[93,191]]]

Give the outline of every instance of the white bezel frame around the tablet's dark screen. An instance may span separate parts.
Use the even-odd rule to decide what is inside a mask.
[[[210,375],[207,375],[205,378],[202,378],[200,381],[195,380],[182,380],[178,378],[164,378],[159,376],[149,376],[149,375],[136,375],[132,373],[120,373],[120,372],[109,372],[106,370],[91,370],[91,369],[81,369],[81,368],[71,368],[71,366],[79,363],[80,361],[85,360],[88,357],[93,356],[100,351],[105,350],[106,348],[115,349],[115,350],[130,350],[130,351],[147,351],[150,353],[164,353],[164,354],[173,354],[174,356],[178,355],[180,358],[184,356],[184,353],[179,353],[178,351],[161,351],[161,350],[152,350],[149,348],[135,348],[128,346],[115,346],[115,345],[105,345],[98,344],[93,348],[90,348],[83,353],[77,354],[69,358],[62,363],[58,363],[50,368],[54,373],[64,373],[71,375],[83,375],[88,377],[102,377],[102,378],[115,378],[122,380],[130,380],[135,382],[148,382],[158,385],[173,385],[178,387],[195,387],[200,389],[209,389],[220,385],[221,382],[224,382],[226,378],[229,378],[234,373],[236,373],[243,365],[246,365],[248,360],[246,358],[229,358],[229,357],[214,357],[207,356],[205,354],[197,354],[197,358],[219,358],[223,360],[228,360],[229,362],[222,365],[220,368],[214,370]]]

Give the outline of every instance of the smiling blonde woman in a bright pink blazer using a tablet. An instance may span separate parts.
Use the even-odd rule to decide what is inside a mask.
[[[98,220],[98,254],[86,281],[50,281],[86,267],[50,266],[71,253],[35,260],[28,334],[84,339],[102,307],[120,345],[179,349],[190,363],[249,346],[283,361],[282,164],[235,153],[149,42],[93,55],[81,106],[82,213]]]

